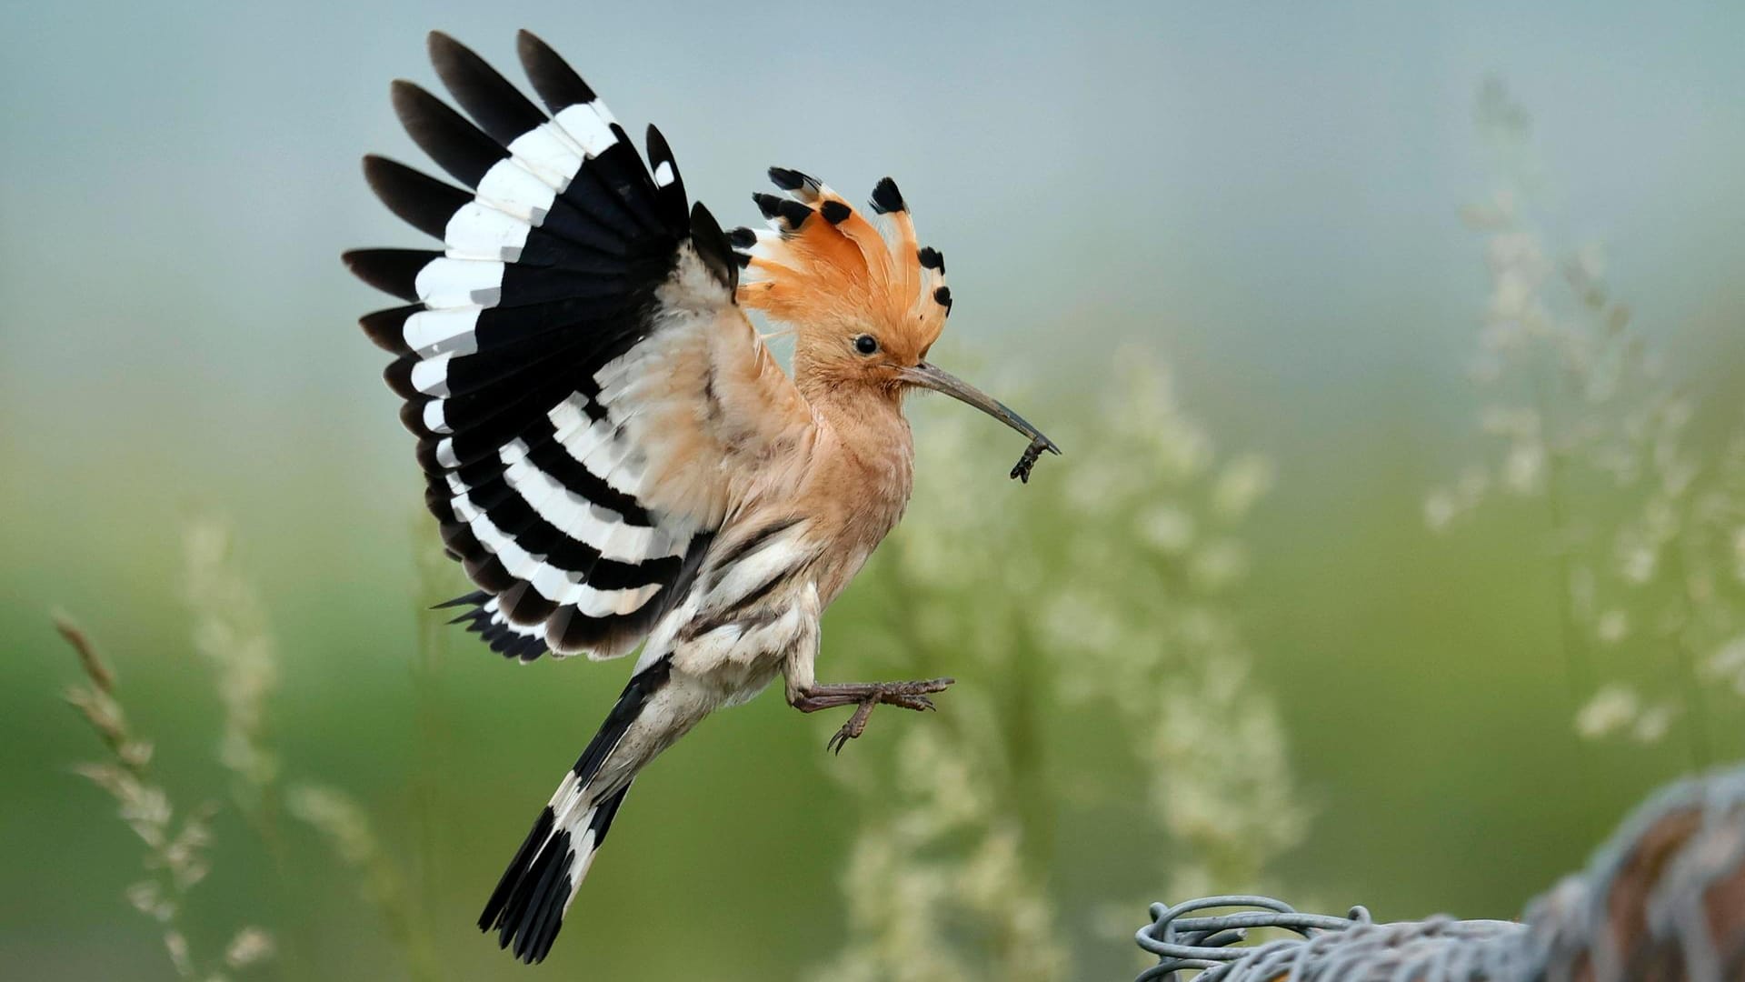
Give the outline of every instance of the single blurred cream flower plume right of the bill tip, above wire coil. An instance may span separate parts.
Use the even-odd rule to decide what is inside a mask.
[[[1160,374],[1139,358],[1124,363],[1127,386]],[[1150,395],[1141,407],[1127,402],[1129,391],[1112,390],[1094,426],[1101,442],[1084,447],[1084,456],[1136,461],[1143,433],[1174,432],[1190,435],[1206,465],[1166,474],[1166,481],[1134,489],[1112,508],[1143,512],[1146,501],[1167,494],[1183,508],[1199,501],[1199,508],[1227,521],[1248,514],[1270,484],[1270,467],[1248,456],[1211,475],[1211,440],[1173,402],[1157,398],[1167,386],[1139,388]],[[1227,507],[1230,481],[1242,486],[1239,508]],[[1218,536],[1187,556],[1145,556],[1133,550],[1119,524],[1078,526],[1075,540],[1077,556],[1119,557],[1070,563],[1059,578],[1099,596],[1101,615],[1120,624],[1101,633],[1126,641],[1073,654],[1057,673],[1071,680],[1063,695],[1110,702],[1134,736],[1152,814],[1176,839],[1181,856],[1171,870],[1174,895],[1192,895],[1187,881],[1216,889],[1256,888],[1265,865],[1302,839],[1307,813],[1295,802],[1277,711],[1249,678],[1251,655],[1222,601],[1246,573],[1246,547],[1235,536]],[[1204,753],[1208,732],[1220,734],[1216,757]]]

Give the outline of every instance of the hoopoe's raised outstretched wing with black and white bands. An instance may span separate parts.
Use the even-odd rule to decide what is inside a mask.
[[[750,461],[815,421],[735,306],[738,264],[689,208],[660,131],[625,129],[522,31],[539,110],[454,38],[431,61],[471,122],[394,82],[407,131],[466,189],[365,157],[375,194],[441,239],[356,250],[407,306],[363,328],[419,437],[426,501],[478,591],[457,622],[506,657],[640,643],[684,594]]]

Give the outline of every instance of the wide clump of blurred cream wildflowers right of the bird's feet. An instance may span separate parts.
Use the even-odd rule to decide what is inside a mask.
[[[879,643],[907,657],[904,676],[986,681],[906,722],[888,757],[855,746],[831,762],[866,819],[843,881],[848,944],[817,979],[1068,977],[1047,786],[1087,778],[1042,758],[1052,694],[1113,709],[1173,839],[1169,889],[1253,888],[1304,833],[1277,711],[1223,601],[1248,568],[1235,526],[1270,463],[1220,461],[1167,376],[1131,353],[1106,405],[1063,435],[1068,467],[1044,461],[996,507],[960,493],[1009,467],[972,437],[979,423],[946,411],[916,426],[916,503],[864,582],[886,594]],[[1070,529],[1047,521],[1059,514],[1077,517]]]

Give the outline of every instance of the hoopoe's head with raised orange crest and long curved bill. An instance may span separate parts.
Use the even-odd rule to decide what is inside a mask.
[[[1024,433],[1033,447],[1059,453],[1005,404],[927,360],[946,328],[951,287],[939,250],[916,245],[893,180],[872,189],[878,224],[817,178],[770,168],[770,180],[785,194],[752,201],[771,231],[735,229],[728,238],[743,266],[740,306],[792,330],[803,391],[860,390],[893,402],[914,388],[942,391]]]

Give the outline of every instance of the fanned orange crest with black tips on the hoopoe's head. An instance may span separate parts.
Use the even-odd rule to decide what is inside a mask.
[[[951,288],[939,250],[916,248],[897,183],[883,178],[872,189],[874,225],[817,178],[770,168],[770,180],[787,194],[752,201],[771,231],[728,236],[745,267],[740,306],[790,325],[801,342],[872,330],[893,351],[925,355],[946,327]]]

